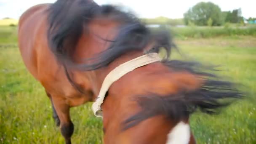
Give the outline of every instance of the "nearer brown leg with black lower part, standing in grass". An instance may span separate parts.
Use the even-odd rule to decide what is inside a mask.
[[[64,136],[66,144],[71,144],[71,136],[74,132],[74,125],[70,120],[69,105],[65,99],[52,96],[53,105],[60,119],[61,134]]]

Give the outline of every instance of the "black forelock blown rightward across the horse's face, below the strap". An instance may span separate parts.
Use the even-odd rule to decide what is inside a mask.
[[[142,110],[124,121],[123,131],[156,115],[165,115],[168,119],[179,122],[186,120],[197,109],[207,114],[218,114],[220,108],[227,107],[235,99],[244,97],[236,88],[238,84],[209,73],[211,70],[216,70],[214,67],[203,66],[195,61],[170,60],[163,61],[163,64],[173,71],[187,71],[193,75],[201,75],[205,82],[200,88],[192,91],[180,89],[166,96],[155,93],[138,96],[135,100]]]

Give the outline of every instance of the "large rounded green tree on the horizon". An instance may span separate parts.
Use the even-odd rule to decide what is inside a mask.
[[[213,26],[220,26],[224,23],[224,16],[218,5],[211,2],[200,2],[190,8],[184,13],[185,24],[189,24],[189,21],[199,25],[208,25],[208,20],[211,18]]]

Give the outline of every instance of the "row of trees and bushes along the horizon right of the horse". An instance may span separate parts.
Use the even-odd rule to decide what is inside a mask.
[[[155,19],[142,19],[147,24],[168,25],[197,25],[197,26],[221,26],[225,23],[244,23],[244,20],[256,20],[256,18],[244,19],[242,10],[221,11],[221,8],[212,2],[200,2],[184,13],[183,19],[169,19],[157,17]]]

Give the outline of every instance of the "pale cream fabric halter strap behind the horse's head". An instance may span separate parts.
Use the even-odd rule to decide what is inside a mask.
[[[161,60],[162,59],[158,56],[158,53],[148,53],[143,56],[139,56],[135,59],[132,59],[130,61],[127,61],[113,69],[111,72],[109,72],[109,74],[107,75],[107,77],[105,77],[101,85],[101,89],[96,101],[92,105],[94,115],[96,117],[103,117],[101,104],[103,104],[105,95],[109,87],[112,85],[112,83],[119,80],[121,77],[123,77],[123,75],[133,71],[138,67],[142,67],[144,65],[151,64],[153,62]]]

